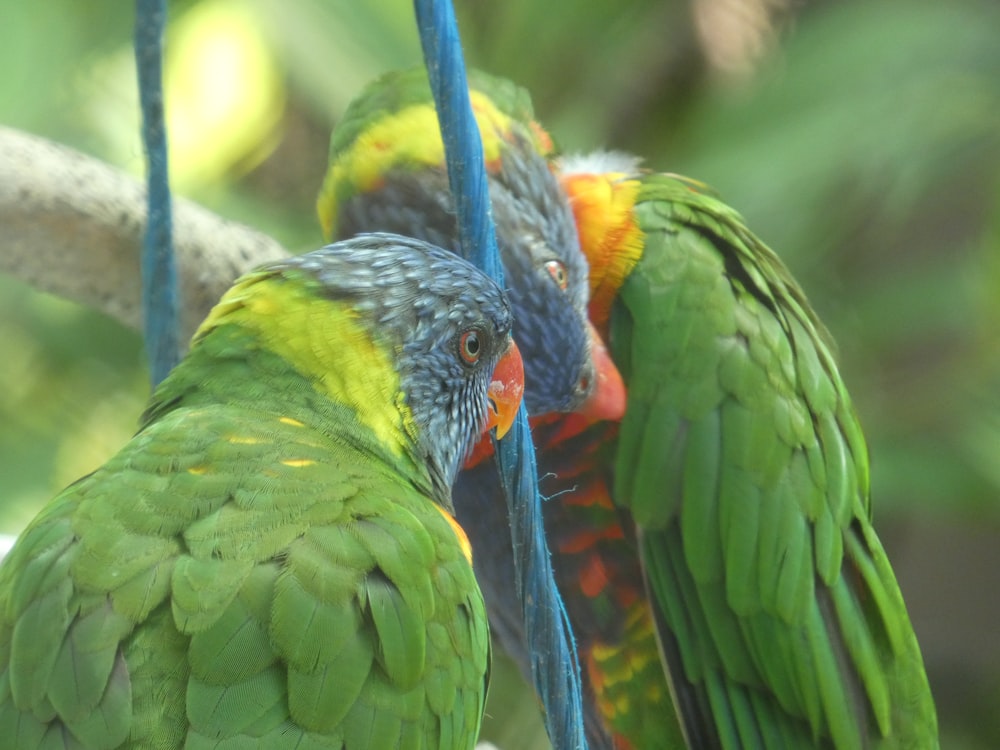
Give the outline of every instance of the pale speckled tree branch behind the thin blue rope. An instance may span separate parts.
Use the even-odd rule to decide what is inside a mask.
[[[97,159],[0,127],[0,272],[141,328],[145,195]],[[173,211],[186,341],[237,276],[289,252],[183,198]]]

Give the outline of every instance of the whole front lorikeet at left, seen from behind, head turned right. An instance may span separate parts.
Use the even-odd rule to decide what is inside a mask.
[[[239,279],[0,566],[0,744],[473,747],[489,634],[451,484],[519,406],[511,322],[388,234]]]

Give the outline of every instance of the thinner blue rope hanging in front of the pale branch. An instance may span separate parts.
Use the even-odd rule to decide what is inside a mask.
[[[174,262],[163,122],[163,29],[166,0],[136,0],[135,62],[148,167],[148,220],[142,243],[142,312],[155,386],[177,364],[177,267]]]

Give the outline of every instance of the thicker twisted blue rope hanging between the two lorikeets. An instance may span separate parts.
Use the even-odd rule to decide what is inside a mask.
[[[503,286],[483,146],[469,102],[454,10],[448,0],[414,0],[414,6],[424,62],[441,123],[462,251]],[[545,707],[546,729],[556,750],[583,750],[586,739],[580,700],[580,664],[545,545],[535,450],[523,405],[509,436],[497,446],[497,460],[507,497],[515,580],[531,654],[531,670]]]

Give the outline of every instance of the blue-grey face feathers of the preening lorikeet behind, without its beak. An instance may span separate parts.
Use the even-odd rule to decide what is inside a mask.
[[[524,402],[531,414],[573,411],[595,385],[587,323],[587,265],[572,211],[527,134],[515,138],[491,175],[490,198],[504,283],[514,309],[514,338],[524,358]],[[443,168],[397,171],[373,193],[341,208],[338,231],[371,229],[420,237],[458,249],[454,208]]]

